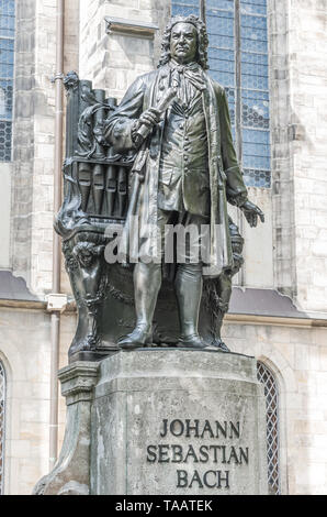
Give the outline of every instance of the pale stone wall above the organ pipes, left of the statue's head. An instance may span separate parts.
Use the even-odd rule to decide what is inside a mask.
[[[169,2],[159,0],[92,0],[81,2],[80,77],[92,78],[94,88],[106,88],[121,99],[133,80],[154,68],[160,52],[160,33],[153,37],[108,34],[105,16],[164,29],[169,18]]]

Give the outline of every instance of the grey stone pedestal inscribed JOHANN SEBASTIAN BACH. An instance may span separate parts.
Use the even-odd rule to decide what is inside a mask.
[[[74,363],[60,377],[64,447],[35,493],[268,493],[266,405],[253,358],[121,351],[98,364]]]

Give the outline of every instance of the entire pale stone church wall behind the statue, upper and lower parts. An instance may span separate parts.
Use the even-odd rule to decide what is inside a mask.
[[[4,166],[1,193],[11,207],[1,198],[0,268],[22,276],[38,301],[0,299],[0,360],[8,377],[4,492],[29,494],[48,471],[50,318],[44,297],[52,287],[56,0],[16,6],[13,161]],[[155,66],[169,12],[168,0],[66,0],[65,73],[75,69],[121,99]],[[159,29],[145,38],[108,34],[105,16]],[[256,355],[277,377],[283,494],[327,492],[326,20],[325,0],[269,1],[273,185],[250,189],[267,222],[256,232],[244,224],[246,267],[237,278],[291,296],[305,317],[233,315],[224,326],[234,352]],[[61,292],[70,294],[64,266]],[[75,322],[72,311],[61,316],[60,366]],[[61,399],[60,443],[65,411]]]

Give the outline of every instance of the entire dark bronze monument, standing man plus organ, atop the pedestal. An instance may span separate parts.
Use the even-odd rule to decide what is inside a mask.
[[[66,78],[65,199],[56,230],[79,310],[70,360],[120,346],[228,350],[221,327],[244,241],[227,201],[250,226],[263,213],[247,198],[226,95],[206,73],[206,47],[200,20],[173,19],[158,69],[137,78],[119,107],[90,81]],[[205,264],[192,263],[187,251],[185,263],[164,266],[156,239],[165,223],[207,224]],[[115,228],[123,230],[123,264],[104,257]],[[159,260],[140,260],[140,250]]]

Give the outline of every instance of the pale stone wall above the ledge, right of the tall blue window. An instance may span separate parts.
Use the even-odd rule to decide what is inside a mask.
[[[327,6],[270,6],[275,286],[326,314]]]

